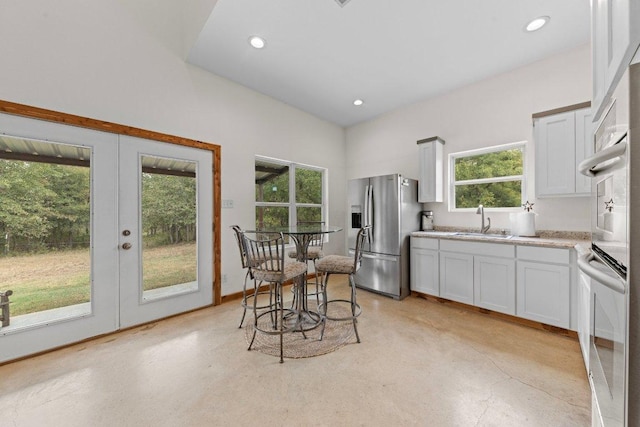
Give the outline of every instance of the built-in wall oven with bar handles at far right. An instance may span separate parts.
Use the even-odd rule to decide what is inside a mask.
[[[629,145],[624,107],[613,102],[594,134],[595,154],[579,166],[592,178],[591,253],[578,260],[591,288],[589,382],[594,416],[606,427],[626,425]]]

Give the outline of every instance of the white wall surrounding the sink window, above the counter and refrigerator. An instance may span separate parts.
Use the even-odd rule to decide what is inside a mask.
[[[537,229],[588,231],[588,198],[535,198],[531,115],[589,101],[590,70],[590,49],[583,46],[350,127],[347,179],[393,172],[417,178],[416,141],[431,136],[446,141],[445,161],[453,152],[528,141],[527,193]],[[448,170],[447,164],[445,177]],[[450,213],[447,205],[425,204],[436,225],[479,227],[475,213]],[[489,215],[493,228],[510,227],[507,213]]]

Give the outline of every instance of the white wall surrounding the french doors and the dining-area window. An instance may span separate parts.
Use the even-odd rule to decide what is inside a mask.
[[[330,222],[344,226],[344,130],[186,64],[139,19],[113,0],[2,2],[0,99],[222,146],[223,295],[241,290],[228,227],[253,224],[256,154],[329,168]]]

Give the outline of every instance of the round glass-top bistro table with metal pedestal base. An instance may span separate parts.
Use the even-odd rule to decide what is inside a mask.
[[[305,223],[305,224],[293,224],[284,227],[261,227],[259,231],[267,233],[282,233],[291,237],[291,240],[296,245],[297,261],[307,262],[307,250],[309,249],[309,243],[317,239],[318,235],[325,235],[331,233],[337,233],[342,231],[342,227],[325,225],[321,223]],[[300,330],[302,332],[315,328],[320,324],[320,313],[317,311],[309,310],[307,304],[307,287],[305,282],[307,280],[306,275],[303,275],[298,279],[299,282],[296,286],[295,306],[294,312],[298,314],[298,321],[300,322]]]

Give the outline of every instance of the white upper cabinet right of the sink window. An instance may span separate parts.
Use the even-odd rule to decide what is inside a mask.
[[[589,108],[534,114],[537,197],[589,195],[589,179],[578,164],[593,153],[591,130]]]

